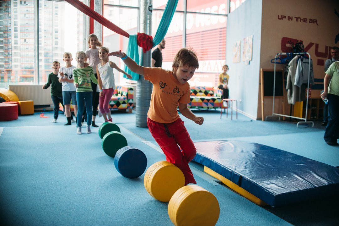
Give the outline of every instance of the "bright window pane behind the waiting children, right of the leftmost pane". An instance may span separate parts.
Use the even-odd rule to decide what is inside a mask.
[[[39,3],[39,61],[40,83],[45,83],[52,72],[53,61],[59,61],[61,67],[63,53],[70,52],[72,64],[77,65],[75,54],[85,51],[83,21],[88,18],[66,2],[41,1]]]

